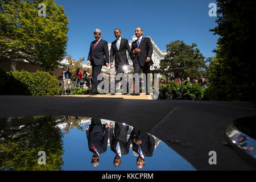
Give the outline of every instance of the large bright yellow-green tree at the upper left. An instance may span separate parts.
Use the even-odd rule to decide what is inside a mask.
[[[46,16],[39,16],[39,3]],[[46,71],[59,65],[67,48],[68,17],[54,0],[0,2],[0,61],[26,59]]]

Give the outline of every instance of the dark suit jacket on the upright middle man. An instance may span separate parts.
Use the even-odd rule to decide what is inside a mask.
[[[115,66],[129,65],[126,50],[132,59],[133,53],[131,52],[131,48],[127,39],[121,38],[119,50],[117,49],[117,40],[112,42],[110,48],[110,62],[112,63],[113,60],[115,60]]]

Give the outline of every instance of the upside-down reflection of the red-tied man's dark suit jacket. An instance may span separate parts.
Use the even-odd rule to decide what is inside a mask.
[[[90,125],[86,130],[89,151],[94,152],[92,143],[99,154],[106,152],[108,147],[109,127],[105,125]]]

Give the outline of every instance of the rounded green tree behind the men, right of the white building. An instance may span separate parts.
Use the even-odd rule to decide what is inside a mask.
[[[184,72],[179,74],[180,78],[195,78],[207,76],[207,60],[200,53],[197,45],[192,43],[188,46],[183,41],[176,40],[166,45],[167,55],[160,61],[160,68],[166,78],[173,78],[168,68],[183,68]]]

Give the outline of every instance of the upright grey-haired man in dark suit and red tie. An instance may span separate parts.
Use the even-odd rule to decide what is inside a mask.
[[[90,95],[96,95],[98,90],[98,75],[101,73],[101,68],[103,65],[106,67],[109,66],[109,49],[108,42],[106,40],[101,39],[101,31],[96,29],[94,30],[94,40],[90,43],[90,51],[88,55],[87,65],[92,65],[92,75],[93,75],[93,83],[92,83],[92,91]]]

